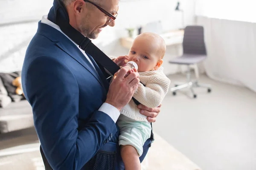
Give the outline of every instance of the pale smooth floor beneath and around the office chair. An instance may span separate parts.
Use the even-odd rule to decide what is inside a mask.
[[[185,76],[169,76],[183,81]],[[154,131],[203,170],[256,170],[256,93],[201,76],[212,93],[167,94]],[[171,160],[170,160],[171,161]]]

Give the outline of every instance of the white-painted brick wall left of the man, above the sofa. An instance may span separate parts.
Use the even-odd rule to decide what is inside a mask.
[[[0,72],[21,70],[38,21],[53,0],[0,0]]]

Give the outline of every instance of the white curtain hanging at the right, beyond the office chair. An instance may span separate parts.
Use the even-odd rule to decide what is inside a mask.
[[[232,1],[230,6],[233,3],[235,2]],[[200,8],[204,8],[204,4],[206,3],[196,4],[196,8],[199,5]],[[222,3],[224,4],[227,3]],[[243,4],[241,3],[241,7]],[[236,8],[238,9],[237,6]],[[256,92],[256,14],[253,16],[254,19],[250,18],[250,22],[244,22],[241,20],[249,20],[249,18],[243,16],[233,20],[227,15],[221,16],[223,8],[219,11],[218,8],[214,8],[217,13],[219,12],[215,16],[213,11],[204,13],[206,9],[201,9],[201,14],[204,16],[197,10],[196,24],[204,26],[208,53],[204,68],[207,75],[222,82],[243,85]]]

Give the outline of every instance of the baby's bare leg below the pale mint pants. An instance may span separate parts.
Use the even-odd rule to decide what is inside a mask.
[[[125,164],[125,170],[141,170],[139,154],[133,146],[122,145],[121,156]]]

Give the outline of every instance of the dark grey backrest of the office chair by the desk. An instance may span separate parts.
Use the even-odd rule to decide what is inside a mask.
[[[184,54],[207,54],[203,26],[186,26],[183,37]]]

